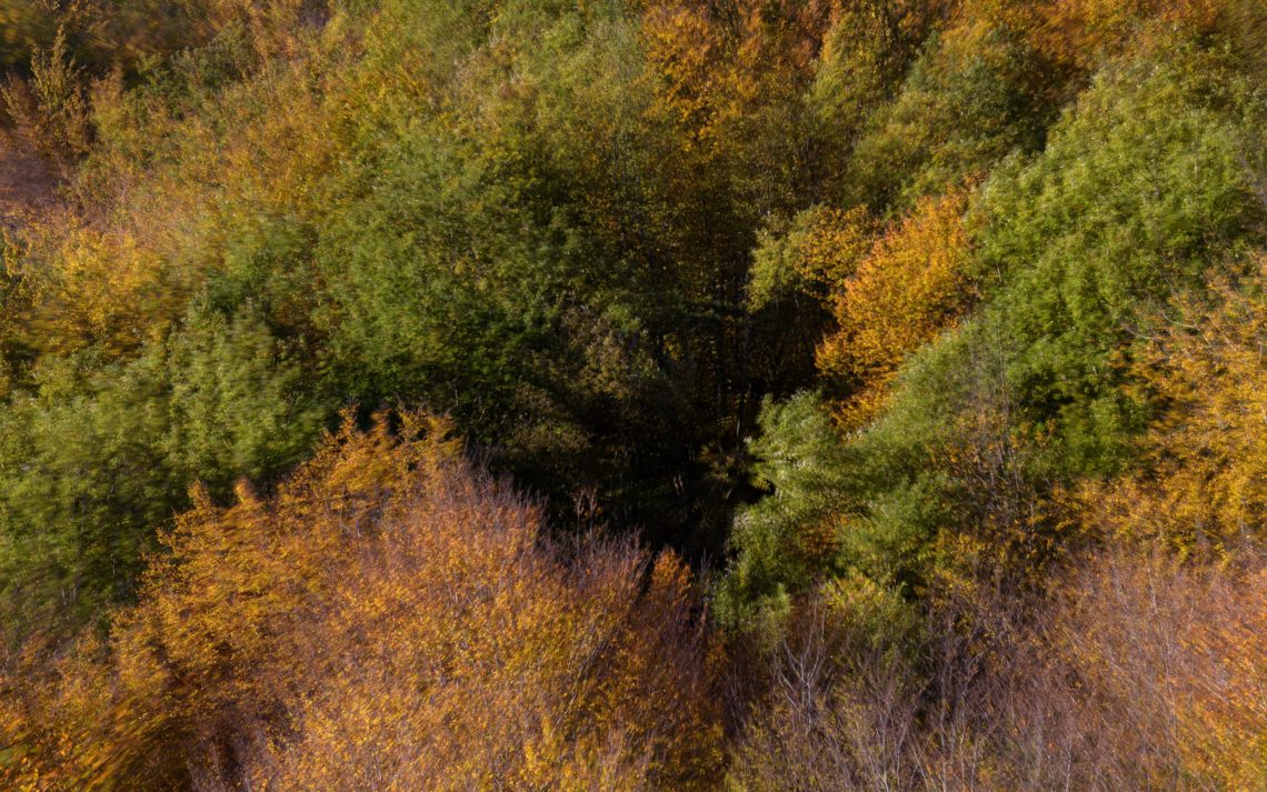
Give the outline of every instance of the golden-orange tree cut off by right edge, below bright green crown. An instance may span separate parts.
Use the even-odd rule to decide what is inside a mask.
[[[1143,441],[1150,475],[1092,485],[1090,520],[1180,550],[1261,539],[1267,525],[1267,257],[1240,288],[1216,284],[1211,309],[1178,316],[1139,351],[1134,373],[1159,402]]]

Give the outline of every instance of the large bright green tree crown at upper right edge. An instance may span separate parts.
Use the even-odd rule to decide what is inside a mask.
[[[1114,355],[1142,307],[1201,284],[1257,238],[1262,98],[1220,52],[1106,71],[1031,165],[983,190],[979,267],[1028,418],[1058,419],[1071,470],[1120,464]],[[1128,412],[1124,412],[1128,411]]]

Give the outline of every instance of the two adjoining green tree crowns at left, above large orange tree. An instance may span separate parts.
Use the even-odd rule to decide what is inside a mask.
[[[293,464],[323,414],[296,375],[257,318],[203,310],[131,362],[41,364],[0,432],[6,637],[128,596],[194,482],[223,497]]]

